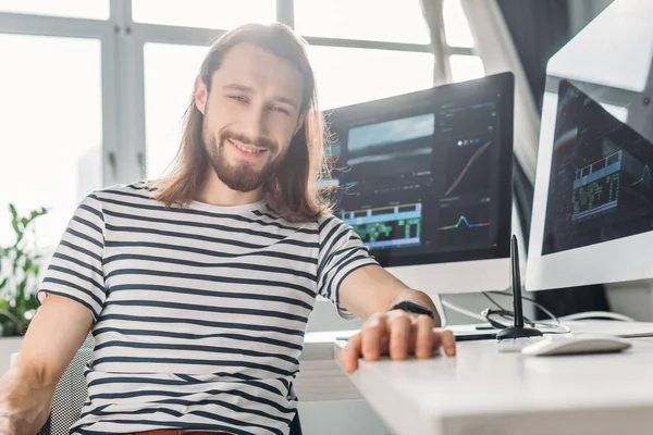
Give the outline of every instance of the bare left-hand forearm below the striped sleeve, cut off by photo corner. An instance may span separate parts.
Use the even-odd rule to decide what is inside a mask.
[[[90,331],[93,314],[49,295],[32,321],[21,353],[0,380],[0,434],[35,434],[46,423],[54,388]]]

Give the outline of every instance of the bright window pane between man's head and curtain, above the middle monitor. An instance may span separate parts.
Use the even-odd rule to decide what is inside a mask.
[[[433,55],[390,50],[309,47],[321,110],[433,86]]]

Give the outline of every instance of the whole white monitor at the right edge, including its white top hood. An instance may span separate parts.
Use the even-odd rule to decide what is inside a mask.
[[[653,277],[650,16],[615,1],[549,61],[527,290]]]

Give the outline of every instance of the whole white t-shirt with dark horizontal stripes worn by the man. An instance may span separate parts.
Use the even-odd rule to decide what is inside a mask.
[[[39,290],[95,318],[71,432],[287,434],[316,296],[337,306],[343,279],[375,261],[333,215],[289,223],[264,200],[165,208],[152,186],[89,195]]]

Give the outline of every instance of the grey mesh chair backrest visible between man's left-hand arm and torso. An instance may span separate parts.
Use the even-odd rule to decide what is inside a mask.
[[[93,357],[93,348],[94,339],[89,334],[57,384],[50,417],[38,435],[69,435],[71,426],[79,420],[82,408],[88,399],[84,372]]]

